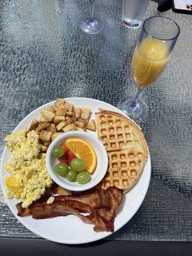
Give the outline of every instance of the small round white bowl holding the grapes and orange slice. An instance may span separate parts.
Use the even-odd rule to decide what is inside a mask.
[[[56,166],[59,161],[56,157],[52,156],[52,148],[61,145],[61,143],[65,142],[65,140],[67,140],[68,138],[79,138],[88,141],[94,148],[97,155],[97,167],[95,169],[95,172],[90,175],[91,180],[86,184],[79,184],[76,181],[70,182],[66,178],[61,177],[54,172],[54,166]],[[71,131],[61,134],[54,141],[52,141],[47,150],[46,164],[49,175],[51,176],[52,180],[56,182],[56,184],[60,185],[62,188],[71,191],[83,191],[93,188],[100,182],[100,180],[103,179],[104,175],[108,170],[108,154],[106,152],[106,148],[104,148],[104,145],[102,145],[102,143],[92,134],[88,132]]]

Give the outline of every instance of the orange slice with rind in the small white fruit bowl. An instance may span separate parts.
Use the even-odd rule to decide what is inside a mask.
[[[69,138],[65,141],[65,144],[76,157],[81,158],[84,161],[87,172],[92,173],[95,170],[97,156],[90,143],[79,138]]]

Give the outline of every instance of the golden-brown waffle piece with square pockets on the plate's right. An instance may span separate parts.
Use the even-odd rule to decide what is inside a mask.
[[[95,113],[97,135],[108,152],[109,167],[101,187],[128,191],[136,184],[147,163],[147,143],[131,118],[100,109]]]

